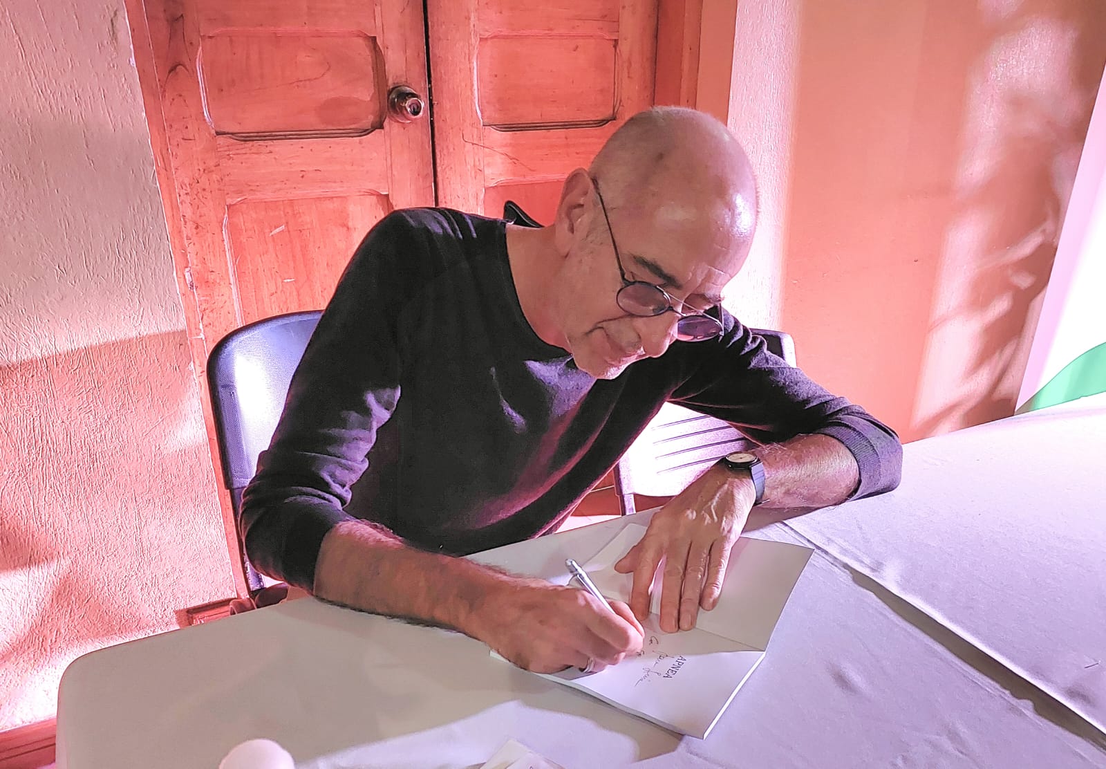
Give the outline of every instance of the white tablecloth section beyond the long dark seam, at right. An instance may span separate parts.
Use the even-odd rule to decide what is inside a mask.
[[[790,524],[1106,731],[1106,394],[905,454],[895,493]]]

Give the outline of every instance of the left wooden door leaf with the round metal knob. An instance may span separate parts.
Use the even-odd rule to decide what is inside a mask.
[[[205,376],[211,347],[251,321],[324,306],[380,217],[434,205],[428,115],[406,123],[388,116],[394,86],[427,93],[421,6],[127,2],[218,457]],[[226,493],[222,508],[233,549]],[[234,567],[243,593],[240,564]]]

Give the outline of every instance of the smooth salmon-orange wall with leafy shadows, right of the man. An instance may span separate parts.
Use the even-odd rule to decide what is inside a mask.
[[[1106,63],[1106,3],[804,2],[783,321],[912,440],[1008,416]]]

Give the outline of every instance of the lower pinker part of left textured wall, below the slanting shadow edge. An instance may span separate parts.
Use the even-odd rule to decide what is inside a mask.
[[[184,332],[0,368],[0,729],[76,656],[232,593]]]

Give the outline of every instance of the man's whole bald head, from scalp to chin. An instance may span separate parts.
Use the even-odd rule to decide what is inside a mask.
[[[681,314],[721,301],[755,215],[752,167],[726,126],[677,107],[635,115],[565,180],[553,224],[562,262],[547,297],[557,343],[598,378],[662,354]],[[638,289],[616,299],[627,281],[664,289],[676,312],[630,314]]]

